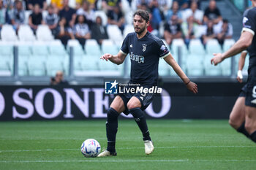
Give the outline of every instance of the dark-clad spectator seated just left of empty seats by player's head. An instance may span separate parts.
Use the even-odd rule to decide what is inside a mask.
[[[108,39],[106,26],[102,26],[102,18],[97,16],[96,22],[91,27],[91,38],[96,39],[100,49],[102,49],[103,39]]]

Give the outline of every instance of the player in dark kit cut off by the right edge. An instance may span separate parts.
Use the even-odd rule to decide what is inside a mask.
[[[214,54],[211,63],[218,63],[247,50],[249,53],[248,80],[230,113],[230,125],[238,132],[256,142],[256,0],[252,8],[244,12],[243,30],[240,39],[225,53]]]

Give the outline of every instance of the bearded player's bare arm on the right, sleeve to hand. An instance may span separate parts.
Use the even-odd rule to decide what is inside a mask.
[[[176,74],[178,74],[178,77],[180,77],[181,80],[184,82],[184,84],[187,85],[187,89],[189,89],[193,93],[197,93],[197,84],[189,80],[187,75],[182,71],[181,67],[178,66],[178,63],[176,63],[176,61],[174,60],[171,54],[165,57],[165,61],[166,63],[168,63],[170,66],[173,67],[173,70],[176,72]]]

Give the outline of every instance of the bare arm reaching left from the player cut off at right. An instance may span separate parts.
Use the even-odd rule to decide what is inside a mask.
[[[225,53],[214,53],[214,58],[211,58],[211,64],[217,66],[218,63],[221,63],[225,58],[229,58],[233,55],[241,53],[243,50],[246,50],[252,44],[253,34],[249,31],[244,31],[240,39]]]

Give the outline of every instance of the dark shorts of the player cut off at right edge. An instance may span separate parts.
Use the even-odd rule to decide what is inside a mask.
[[[245,97],[245,105],[248,107],[256,107],[256,67],[249,72],[246,85],[241,89],[239,96]]]

